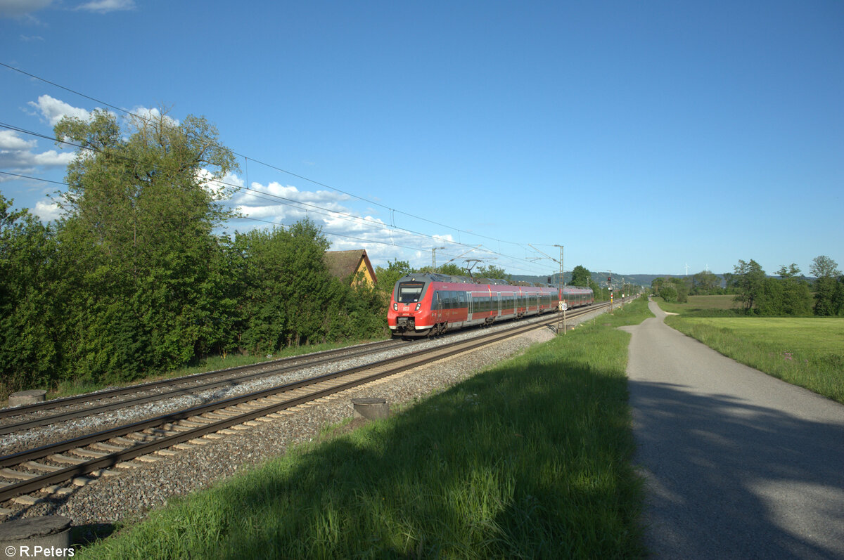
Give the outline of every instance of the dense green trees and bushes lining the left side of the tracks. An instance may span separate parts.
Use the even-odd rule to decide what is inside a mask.
[[[237,168],[203,117],[124,130],[97,110],[55,132],[79,147],[62,217],[43,224],[0,193],[0,393],[386,332],[383,293],[332,277],[311,221],[215,233],[235,217],[215,181]]]

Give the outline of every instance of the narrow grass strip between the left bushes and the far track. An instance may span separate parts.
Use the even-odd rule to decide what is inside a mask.
[[[365,342],[374,341],[326,342],[323,344],[314,344],[308,346],[288,347],[284,348],[280,352],[273,353],[270,356],[245,356],[239,353],[228,354],[227,356],[225,356],[225,358],[223,356],[209,356],[208,358],[203,358],[197,361],[197,363],[194,363],[193,365],[187,366],[185,368],[175,369],[165,374],[149,375],[148,377],[144,377],[143,379],[133,380],[121,385],[107,385],[104,383],[84,383],[81,381],[64,381],[57,385],[55,389],[48,390],[46,398],[56,399],[62,396],[80,395],[82,393],[89,393],[95,390],[102,390],[106,389],[106,387],[138,385],[140,383],[146,383],[148,381],[164,380],[171,379],[174,377],[182,377],[185,375],[200,374],[206,371],[214,371],[217,369],[236,368],[241,365],[252,365],[253,363],[266,362],[271,359],[274,360],[279,358],[289,358],[291,356],[300,356],[301,354],[333,350],[335,348],[351,346],[354,344],[362,344]]]

